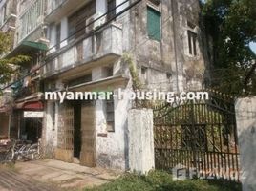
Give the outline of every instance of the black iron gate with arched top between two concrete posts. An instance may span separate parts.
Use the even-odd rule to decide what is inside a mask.
[[[209,93],[208,100],[161,104],[154,109],[154,136],[157,169],[182,166],[204,179],[239,180],[232,97]]]

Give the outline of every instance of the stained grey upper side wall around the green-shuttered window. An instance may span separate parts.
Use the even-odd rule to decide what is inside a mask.
[[[203,51],[207,47],[203,47],[204,35],[199,23],[199,1],[161,1],[157,7],[161,13],[160,42],[150,39],[147,34],[147,6],[151,5],[150,1],[143,1],[131,12],[131,42],[134,53],[137,54],[138,66],[147,67],[149,73],[161,72],[162,76],[170,73],[169,90],[177,92],[202,89],[205,66],[209,63]],[[198,35],[197,55],[193,56],[188,53],[188,22],[195,25],[192,31]],[[165,79],[157,78],[154,83],[159,83],[158,87],[162,88],[165,86],[164,81],[169,81],[166,75]],[[148,82],[149,86],[154,86],[154,83]]]

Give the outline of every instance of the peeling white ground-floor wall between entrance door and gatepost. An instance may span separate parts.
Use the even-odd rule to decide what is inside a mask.
[[[129,90],[126,91],[128,94]],[[127,118],[131,102],[115,98],[114,107],[115,132],[107,132],[105,101],[96,101],[96,165],[125,170],[128,167]]]

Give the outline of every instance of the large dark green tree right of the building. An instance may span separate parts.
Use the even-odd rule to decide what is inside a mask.
[[[256,1],[207,0],[203,3],[206,32],[213,40],[211,86],[234,96],[256,95]]]

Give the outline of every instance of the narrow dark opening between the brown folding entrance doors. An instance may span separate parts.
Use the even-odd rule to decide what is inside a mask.
[[[81,152],[81,103],[74,102],[74,157],[80,158]]]

